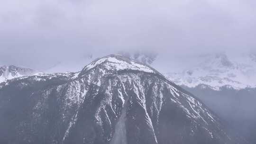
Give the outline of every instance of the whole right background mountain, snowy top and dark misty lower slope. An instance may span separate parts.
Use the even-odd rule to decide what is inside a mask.
[[[255,55],[210,54],[198,65],[167,77],[201,99],[223,118],[229,131],[238,132],[248,142],[256,139]]]

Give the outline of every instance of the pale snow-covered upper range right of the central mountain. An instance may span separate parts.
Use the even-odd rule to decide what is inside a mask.
[[[228,57],[226,54],[204,56],[202,63],[182,72],[166,76],[178,85],[193,88],[201,85],[219,90],[221,87],[237,90],[256,87],[256,54]]]

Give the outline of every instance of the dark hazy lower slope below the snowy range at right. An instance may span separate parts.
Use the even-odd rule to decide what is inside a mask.
[[[251,144],[256,144],[256,88],[236,90],[223,86],[213,90],[204,84],[183,88],[195,94],[217,113],[231,132],[237,132]]]

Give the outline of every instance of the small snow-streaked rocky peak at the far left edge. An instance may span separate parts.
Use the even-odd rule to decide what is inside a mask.
[[[17,67],[14,65],[0,67],[0,83],[13,78],[21,76],[30,76],[35,74],[36,71],[29,68]]]

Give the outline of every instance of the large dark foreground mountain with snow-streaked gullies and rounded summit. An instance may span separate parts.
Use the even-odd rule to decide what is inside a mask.
[[[5,144],[246,144],[195,96],[120,55],[0,86]]]

